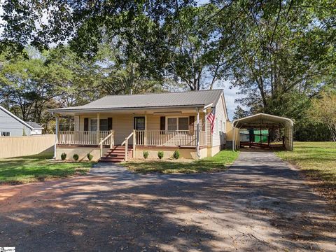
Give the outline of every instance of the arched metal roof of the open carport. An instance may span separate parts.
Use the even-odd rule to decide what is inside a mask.
[[[233,121],[233,126],[238,128],[259,128],[259,127],[293,127],[293,120],[281,116],[273,116],[266,113],[258,113]]]

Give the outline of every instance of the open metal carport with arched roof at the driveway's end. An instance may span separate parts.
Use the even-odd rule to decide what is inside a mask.
[[[239,146],[239,139],[236,139],[235,132],[240,129],[271,129],[283,128],[284,132],[284,147],[287,151],[293,151],[293,120],[283,118],[281,116],[273,116],[266,113],[258,113],[253,116],[247,116],[233,121],[233,144],[235,150]],[[239,136],[239,134],[238,134]]]

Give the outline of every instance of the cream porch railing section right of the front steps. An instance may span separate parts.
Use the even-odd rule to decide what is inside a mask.
[[[188,130],[136,130],[135,144],[141,146],[197,146],[197,132]],[[207,144],[204,131],[200,131],[200,146]]]

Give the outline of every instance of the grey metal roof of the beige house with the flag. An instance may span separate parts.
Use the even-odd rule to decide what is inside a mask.
[[[50,109],[51,112],[95,111],[99,109],[144,109],[179,106],[207,106],[218,102],[223,90],[202,90],[189,92],[122,94],[97,99],[83,106]]]

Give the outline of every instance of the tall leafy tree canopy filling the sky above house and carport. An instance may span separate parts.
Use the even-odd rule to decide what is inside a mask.
[[[335,90],[335,1],[6,0],[2,10],[0,102],[22,118],[229,80],[249,108],[236,117],[286,116],[297,137],[326,126],[309,111]]]

